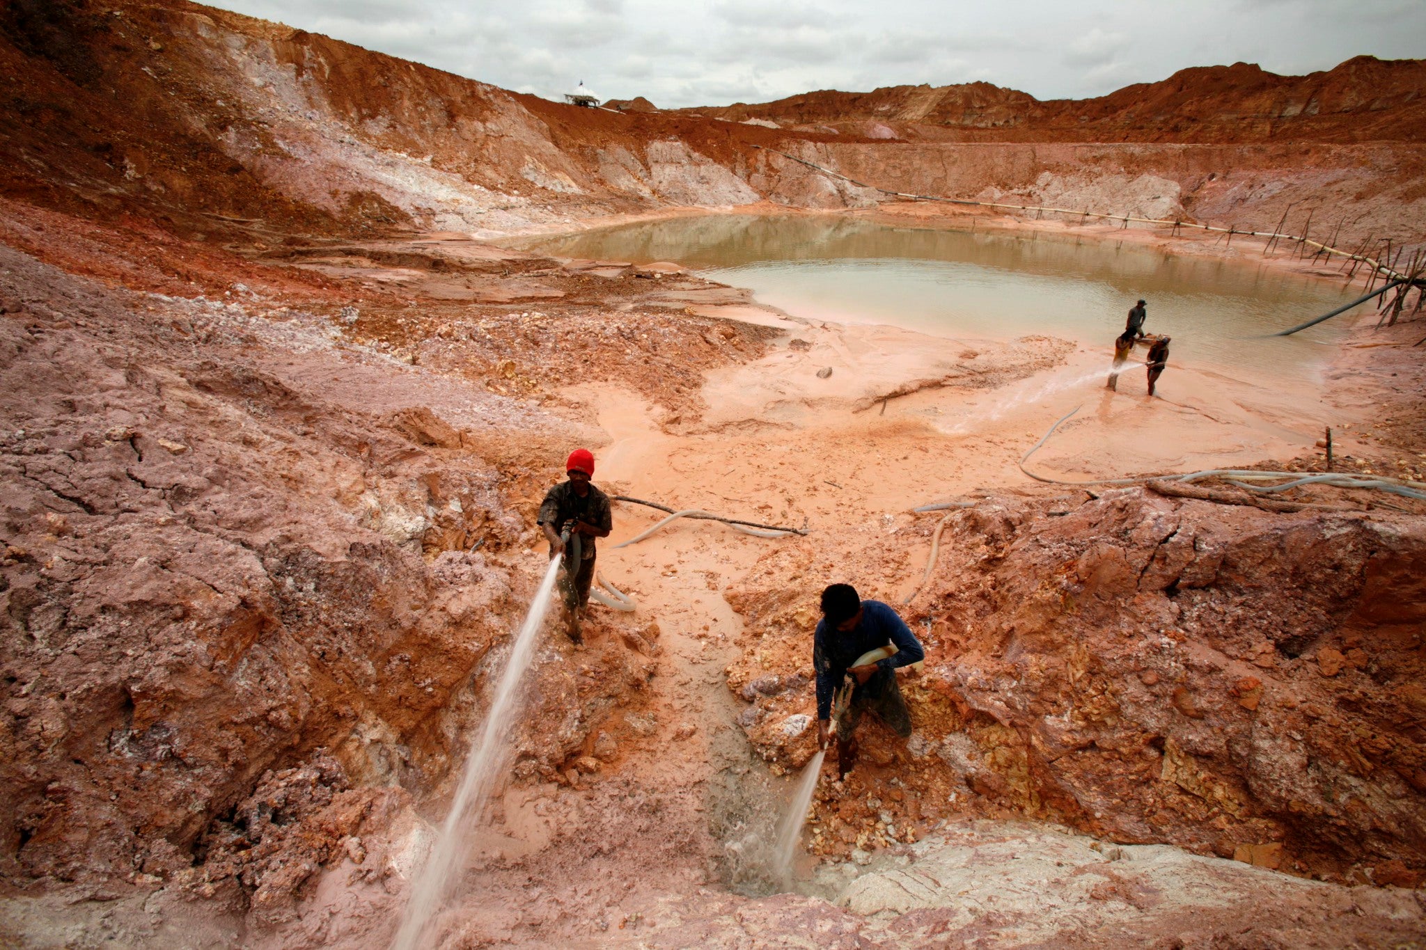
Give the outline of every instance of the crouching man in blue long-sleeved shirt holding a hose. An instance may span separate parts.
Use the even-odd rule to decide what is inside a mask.
[[[864,667],[853,667],[863,654],[894,644],[897,652]],[[821,621],[813,634],[811,665],[817,672],[817,745],[831,741],[831,698],[850,675],[856,685],[847,711],[837,719],[838,772],[846,778],[857,759],[857,724],[871,709],[903,739],[911,735],[896,668],[920,662],[921,644],[901,617],[881,601],[864,601],[851,584],[831,584],[821,593]]]

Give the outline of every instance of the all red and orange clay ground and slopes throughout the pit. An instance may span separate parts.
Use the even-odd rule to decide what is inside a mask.
[[[1172,160],[1185,189],[1215,214],[1273,221],[1245,182],[1278,175],[1296,142],[1338,142],[1302,145],[1322,167],[1292,187],[1329,194],[1362,232],[1420,239],[1420,195],[1402,197],[1422,177],[1415,61],[1301,80],[1188,70],[1087,104],[923,87],[777,113],[860,124],[854,135],[566,107],[183,0],[16,0],[0,10],[0,68],[7,943],[64,943],[67,920],[130,946],[388,943],[426,835],[416,810],[446,800],[545,563],[535,510],[576,443],[599,449],[600,479],[680,507],[727,493],[814,534],[771,553],[694,530],[602,548],[639,585],[640,612],[599,611],[579,651],[546,631],[512,783],[472,846],[472,897],[442,922],[452,946],[749,946],[807,927],[848,947],[990,939],[1010,917],[953,920],[957,893],[881,913],[856,894],[730,890],[746,883],[756,789],[773,798],[769,775],[811,755],[789,718],[811,704],[816,590],[918,573],[940,516],[888,533],[887,499],[906,501],[958,451],[924,420],[853,412],[866,399],[853,366],[866,357],[868,375],[894,376],[878,392],[908,392],[907,367],[951,343],[726,319],[720,305],[752,312],[747,295],[677,268],[555,261],[469,232],[870,201],[754,144],[925,187],[1050,172],[1117,192],[1169,174],[1156,144],[1022,155],[1017,142],[1062,142],[1087,114],[1108,141],[1221,142]],[[870,122],[886,121],[1008,144],[955,165],[937,142],[881,141]],[[1358,145],[1352,130],[1399,135]],[[933,165],[940,178],[924,178]],[[1422,333],[1363,332],[1335,366],[1353,417],[1380,416],[1340,436],[1343,464],[1419,470]],[[809,339],[850,360],[827,383],[846,397],[799,403],[803,376],[823,380]],[[981,343],[970,357],[1021,370],[988,386],[1074,350]],[[754,402],[771,392],[801,422],[763,417]],[[914,397],[964,409],[953,389]],[[985,457],[955,460],[968,484],[992,483],[1005,463],[988,456],[1025,439],[992,436]],[[821,486],[829,456],[868,446],[896,451],[900,481]],[[1309,451],[1272,467],[1316,464]],[[1088,946],[1111,910],[1141,914],[1135,944],[1419,931],[1417,899],[1392,889],[1426,873],[1422,503],[1278,514],[994,484],[951,516],[943,567],[906,611],[930,647],[906,681],[915,739],[871,726],[886,742],[867,743],[847,786],[819,790],[809,843],[829,873],[856,876],[873,852],[877,873],[900,873],[935,835],[973,850],[1044,836],[1007,839],[1020,826],[983,818],[1050,820],[1097,836],[1075,839],[1074,859],[1097,867],[1114,860],[1109,839],[1154,842],[1378,887],[1208,862],[1242,889],[1195,917],[1184,889],[1159,906],[1134,872],[1091,869],[1105,883],[1088,917],[1024,944]],[[1293,499],[1340,507],[1333,491]],[[632,536],[637,516],[617,517]],[[833,860],[848,855],[860,863]],[[1082,883],[1078,869],[1057,893]],[[1238,940],[1245,920],[1263,933]]]

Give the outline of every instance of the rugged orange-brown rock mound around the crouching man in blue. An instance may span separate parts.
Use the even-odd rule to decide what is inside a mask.
[[[925,675],[904,682],[917,735],[894,753],[911,765],[918,803],[914,815],[887,805],[900,815],[888,823],[914,830],[958,785],[973,810],[1117,840],[1420,880],[1417,520],[1272,516],[1122,490],[1058,517],[1004,503],[957,513],[941,563],[945,580],[906,611],[934,644]],[[769,570],[834,568],[803,551]],[[779,724],[809,706],[810,688],[760,698],[749,677],[806,667],[814,605],[759,590],[742,607],[763,635],[760,662],[734,667],[730,685],[766,711],[746,718],[764,753],[797,763],[809,739]],[[841,818],[857,815],[853,803]],[[826,828],[830,850],[851,842],[836,835],[836,813]]]

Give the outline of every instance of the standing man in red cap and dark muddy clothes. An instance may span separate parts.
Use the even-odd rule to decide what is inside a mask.
[[[569,531],[569,557],[560,573],[559,587],[569,610],[569,638],[576,644],[583,640],[579,632],[589,602],[589,585],[595,580],[595,538],[609,537],[613,530],[613,516],[609,511],[609,496],[589,483],[595,476],[595,456],[589,449],[575,449],[565,461],[568,481],[560,481],[545,493],[539,506],[539,526],[549,540],[549,555],[565,553],[565,531]],[[575,561],[575,563],[572,563]]]

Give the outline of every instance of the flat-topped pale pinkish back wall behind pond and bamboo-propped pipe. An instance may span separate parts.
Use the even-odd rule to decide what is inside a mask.
[[[1339,245],[1368,235],[1419,242],[1426,219],[1426,148],[1369,145],[921,144],[784,141],[781,151],[876,188],[917,195],[1072,208],[1101,214],[1312,236],[1342,224]],[[746,172],[769,199],[806,208],[896,201],[766,151]],[[951,214],[963,207],[944,205]],[[1034,212],[1007,212],[1034,218]],[[1045,215],[1078,224],[1078,216]],[[1114,222],[1089,219],[1089,224]],[[1145,225],[1131,224],[1131,228]]]

